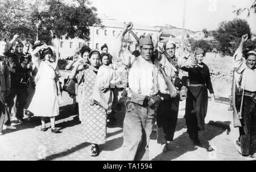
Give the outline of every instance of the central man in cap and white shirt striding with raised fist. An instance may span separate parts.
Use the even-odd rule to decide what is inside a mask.
[[[140,56],[119,56],[122,39],[132,27],[133,23],[125,23],[124,30],[118,35],[113,47],[116,50],[113,53],[114,58],[120,59],[130,70],[129,88],[123,91],[123,99],[127,101],[123,121],[122,156],[123,160],[148,160],[148,142],[156,114],[156,104],[148,104],[148,99],[153,98],[159,91],[158,70],[151,61],[154,47],[150,35],[139,40]]]

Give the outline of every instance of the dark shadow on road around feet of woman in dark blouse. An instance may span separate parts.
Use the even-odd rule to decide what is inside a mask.
[[[179,122],[185,125],[185,119],[180,119]],[[201,148],[205,148],[208,150],[209,141],[214,137],[221,135],[224,133],[226,129],[218,128],[213,126],[212,124],[205,125],[205,131],[199,132],[199,139],[201,141]],[[170,161],[174,160],[187,152],[192,152],[196,150],[196,146],[192,144],[191,140],[188,137],[187,132],[184,132],[182,135],[174,139],[174,141],[170,144],[173,150],[160,153],[158,156],[154,157],[153,161]]]

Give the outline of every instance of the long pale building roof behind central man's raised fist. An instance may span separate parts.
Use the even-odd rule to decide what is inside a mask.
[[[114,20],[114,19],[102,19],[102,26],[104,27],[114,27],[114,28],[123,28],[123,22]],[[143,31],[157,31],[156,28],[146,26],[139,23],[133,23],[133,28],[135,30],[143,30]]]

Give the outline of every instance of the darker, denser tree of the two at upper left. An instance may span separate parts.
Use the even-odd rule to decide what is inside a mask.
[[[96,8],[88,7],[90,2],[87,0],[75,0],[73,2],[76,3],[72,4],[66,4],[61,0],[44,1],[46,5],[44,10],[32,12],[34,20],[41,22],[40,39],[48,41],[52,38],[62,39],[65,36],[65,38],[79,37],[89,40],[89,26],[101,23],[97,17]],[[43,37],[45,34],[48,36]]]

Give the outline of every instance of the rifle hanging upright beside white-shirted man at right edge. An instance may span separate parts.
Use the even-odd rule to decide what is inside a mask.
[[[237,90],[237,84],[236,84],[236,78],[235,78],[235,70],[233,70],[233,81],[232,81],[232,107],[233,107],[233,123],[234,127],[242,127],[240,119],[238,119],[238,111],[236,107],[236,90]]]

